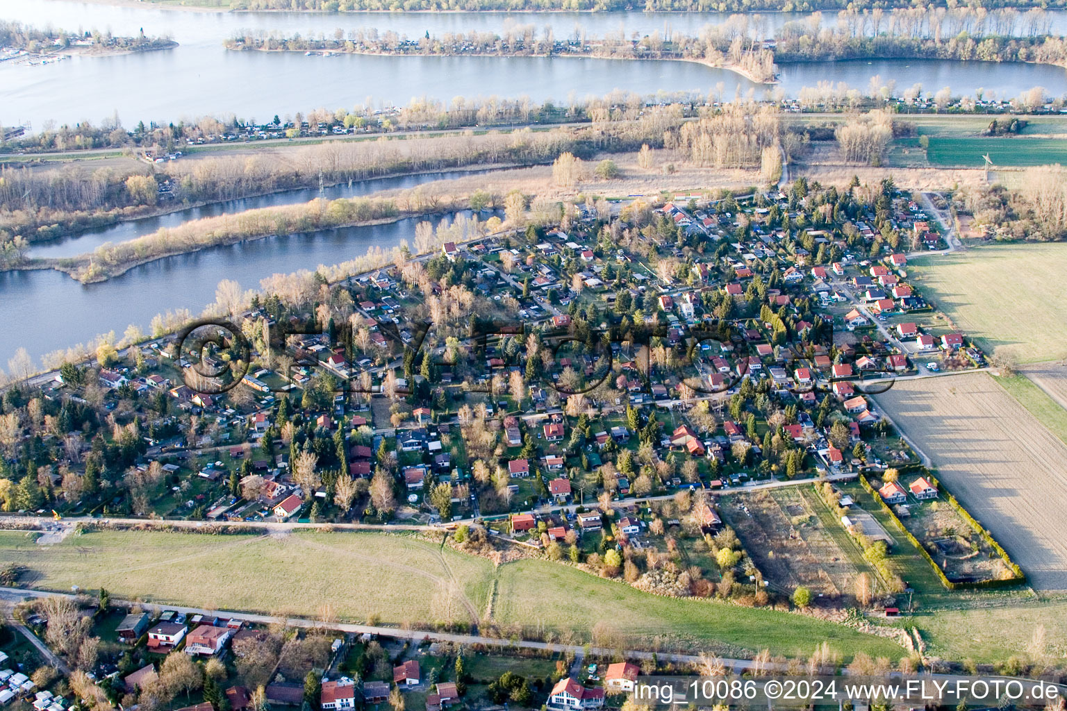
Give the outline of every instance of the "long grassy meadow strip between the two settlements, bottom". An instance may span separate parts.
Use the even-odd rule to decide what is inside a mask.
[[[102,585],[116,597],[155,604],[314,617],[329,612],[339,619],[403,625],[480,618],[492,591],[492,621],[575,643],[640,647],[684,641],[723,655],[769,648],[807,656],[826,640],[846,659],[860,650],[894,660],[904,655],[890,640],[813,617],[656,597],[540,559],[494,569],[485,559],[402,535],[105,531],[42,547],[32,534],[0,531],[0,560],[26,566],[22,583],[31,587]],[[375,575],[365,575],[367,569]]]

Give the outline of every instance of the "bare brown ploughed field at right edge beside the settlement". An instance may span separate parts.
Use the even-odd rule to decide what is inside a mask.
[[[875,398],[1037,589],[1067,589],[1067,446],[985,373],[901,381]]]

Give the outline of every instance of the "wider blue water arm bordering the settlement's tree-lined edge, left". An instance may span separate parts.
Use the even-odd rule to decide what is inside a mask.
[[[122,338],[131,323],[148,333],[157,313],[179,308],[200,313],[214,301],[216,287],[223,279],[258,289],[259,280],[271,274],[336,264],[363,256],[376,245],[389,249],[401,240],[411,243],[423,220],[211,247],[149,262],[100,284],[82,285],[52,270],[0,273],[0,363],[6,363],[19,346],[37,362],[46,353],[109,330]]]

